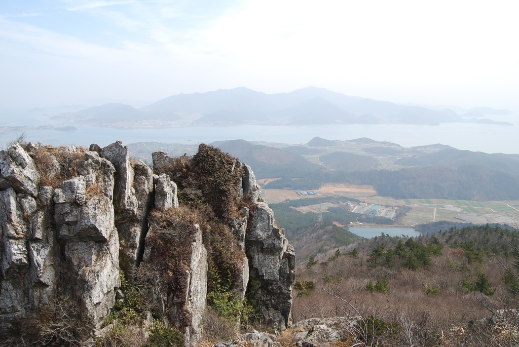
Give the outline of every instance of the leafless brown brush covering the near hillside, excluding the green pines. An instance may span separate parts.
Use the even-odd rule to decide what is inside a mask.
[[[376,243],[389,243],[389,249],[392,239],[379,237]],[[298,280],[311,283],[313,289],[295,287],[293,321],[360,315],[371,319],[372,325],[384,322],[371,339],[365,329],[352,330],[350,339],[360,345],[517,345],[517,315],[500,323],[488,321],[498,309],[519,307],[516,294],[502,282],[506,269],[514,267],[511,256],[487,253],[480,261],[470,249],[447,246],[441,255],[432,256],[430,265],[413,270],[398,256],[392,267],[373,266],[373,246],[361,247],[358,258],[342,254],[300,271]],[[469,291],[473,289],[467,283],[476,281],[479,274],[493,288],[486,291],[488,295]],[[377,279],[387,281],[386,294],[367,290]]]

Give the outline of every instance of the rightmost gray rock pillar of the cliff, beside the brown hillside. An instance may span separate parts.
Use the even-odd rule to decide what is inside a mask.
[[[262,286],[251,293],[261,302],[263,320],[275,329],[285,329],[292,309],[292,283],[295,280],[294,249],[284,232],[274,226],[274,213],[264,202],[258,202],[245,243],[250,275]]]

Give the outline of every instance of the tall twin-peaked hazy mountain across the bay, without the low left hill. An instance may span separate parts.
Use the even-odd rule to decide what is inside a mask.
[[[412,123],[437,124],[461,118],[452,110],[432,110],[359,98],[324,88],[265,94],[244,87],[207,93],[180,94],[144,107],[163,116],[196,115],[197,123]]]

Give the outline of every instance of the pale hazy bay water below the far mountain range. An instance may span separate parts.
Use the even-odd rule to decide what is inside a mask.
[[[438,126],[411,124],[323,124],[307,126],[239,125],[228,127],[175,127],[175,128],[101,128],[74,126],[77,131],[63,132],[51,129],[32,130],[27,140],[43,144],[81,145],[97,143],[106,146],[116,140],[125,144],[134,142],[211,143],[225,140],[247,140],[303,144],[319,136],[328,140],[353,140],[368,137],[388,141],[404,147],[430,144],[449,145],[457,149],[487,153],[516,154],[519,148],[519,126],[480,123],[442,123]],[[17,133],[0,136],[5,146]]]

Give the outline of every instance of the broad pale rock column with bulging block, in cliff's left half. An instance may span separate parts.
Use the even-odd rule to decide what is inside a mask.
[[[119,281],[119,240],[115,228],[113,165],[91,152],[83,173],[54,190],[54,220],[64,244],[62,288],[80,298],[84,319],[100,328],[115,302]],[[112,177],[112,178],[110,178]],[[96,185],[96,193],[86,191]],[[62,274],[63,276],[63,274]],[[72,281],[71,281],[72,280]]]

